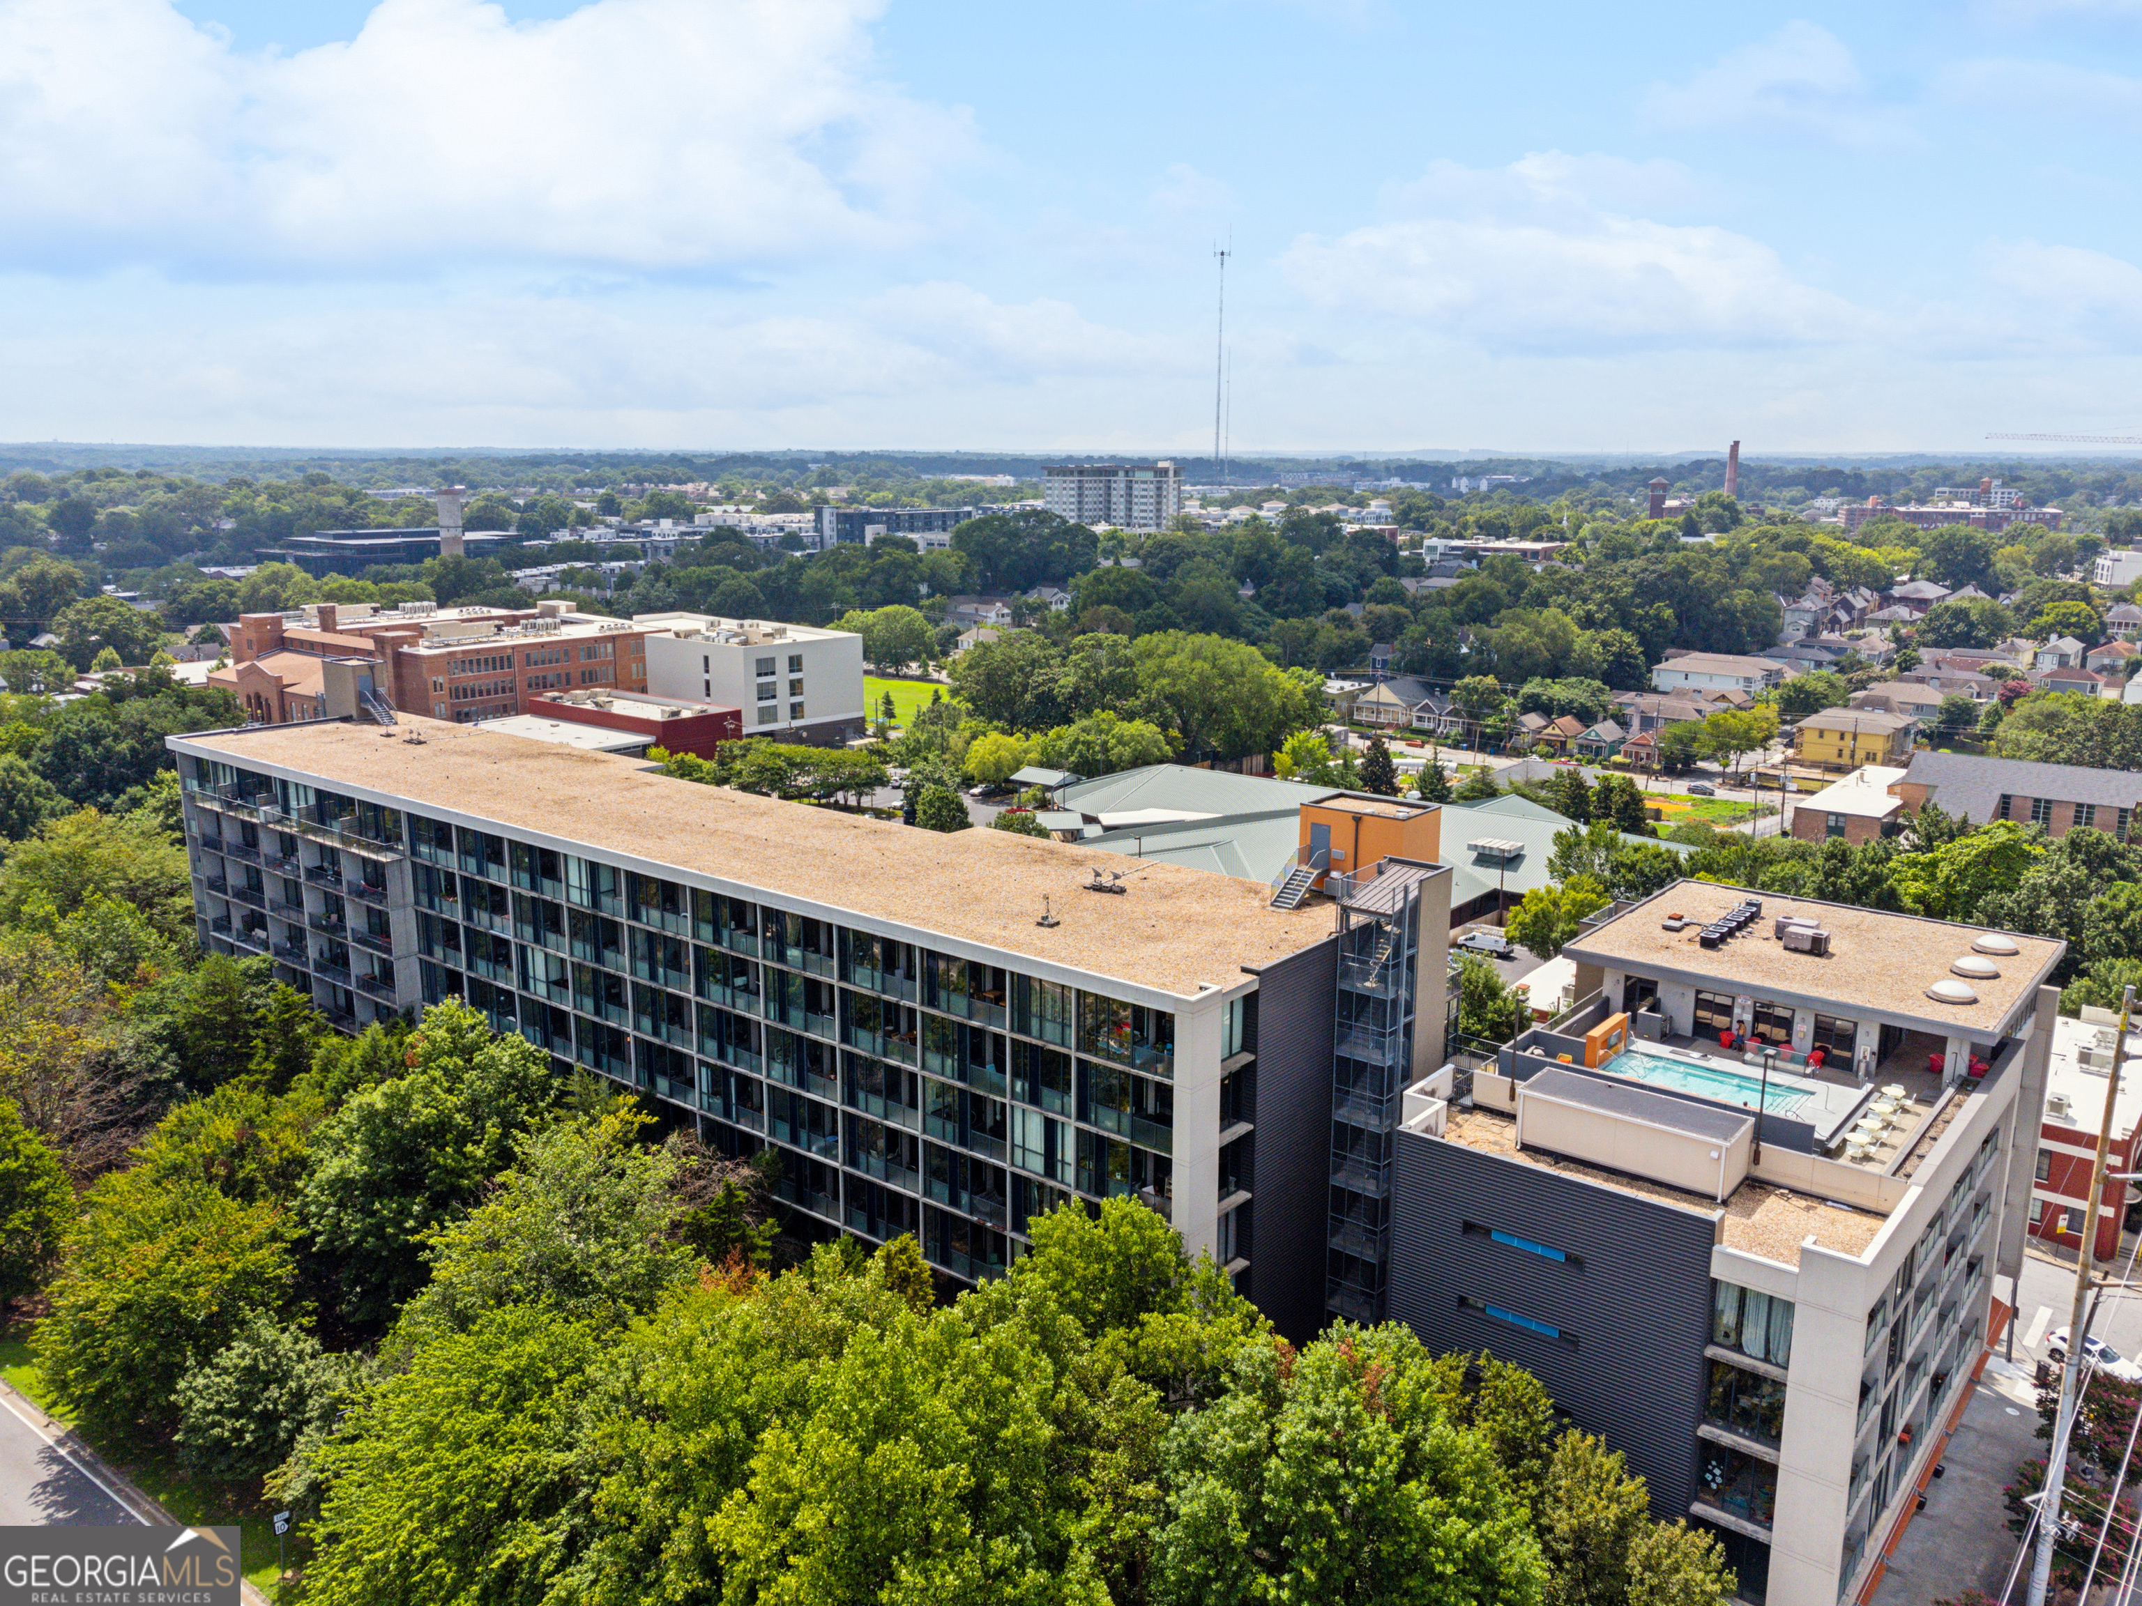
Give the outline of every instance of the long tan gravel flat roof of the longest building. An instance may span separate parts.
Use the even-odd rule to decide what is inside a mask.
[[[392,730],[248,726],[174,737],[171,747],[1176,998],[1234,987],[1245,968],[1332,934],[1328,908],[1274,910],[1264,882],[1009,831],[940,835],[422,715],[405,713]],[[1125,895],[1082,891],[1095,869],[1120,874]],[[1054,927],[1037,925],[1043,899]]]

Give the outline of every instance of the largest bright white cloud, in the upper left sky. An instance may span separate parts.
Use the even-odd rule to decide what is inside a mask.
[[[484,257],[722,270],[893,244],[972,154],[878,0],[381,0],[236,51],[169,0],[0,0],[0,259],[246,274]]]

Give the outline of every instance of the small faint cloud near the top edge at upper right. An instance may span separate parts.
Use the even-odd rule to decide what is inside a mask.
[[[1675,128],[1797,128],[1849,146],[1906,133],[1896,109],[1874,103],[1844,41],[1812,21],[1731,49],[1686,84],[1654,84],[1643,109]]]

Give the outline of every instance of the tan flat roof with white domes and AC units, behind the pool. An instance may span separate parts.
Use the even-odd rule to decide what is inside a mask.
[[[1699,942],[1699,927],[1729,914],[1744,899],[1761,899],[1763,916],[1716,949]],[[1664,919],[1684,914],[1688,925],[1666,931]],[[1780,914],[1806,916],[1829,931],[1829,957],[1791,953],[1771,938]],[[2003,931],[2018,953],[1990,957],[1998,976],[1971,979],[1975,1004],[1939,1004],[1926,996],[1936,981],[1960,981],[1949,966],[1971,953],[1983,925],[1930,921],[1917,914],[1885,914],[1851,904],[1819,904],[1808,897],[1714,882],[1679,880],[1654,893],[1626,914],[1604,921],[1564,946],[1581,964],[1669,972],[1694,983],[1711,983],[1733,994],[1801,998],[1838,1004],[1838,1013],[1876,1011],[1928,1032],[1962,1032],[1990,1039],[2031,1006],[2031,996],[2058,964],[2065,942]]]

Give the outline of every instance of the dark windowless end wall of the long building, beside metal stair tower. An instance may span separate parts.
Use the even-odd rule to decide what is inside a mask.
[[[1294,1343],[1324,1325],[1337,936],[1257,976],[1249,1298]]]

